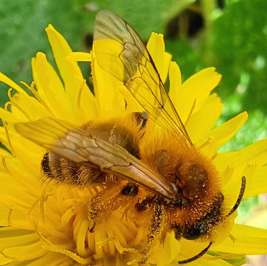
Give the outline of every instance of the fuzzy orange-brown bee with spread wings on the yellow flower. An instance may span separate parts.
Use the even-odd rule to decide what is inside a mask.
[[[174,231],[178,241],[207,242],[205,249],[178,263],[198,259],[215,241],[214,228],[238,208],[245,177],[227,212],[212,160],[192,143],[149,52],[122,18],[109,11],[97,14],[93,52],[101,69],[124,85],[126,102],[135,99],[142,112],[82,127],[46,118],[19,123],[16,130],[47,149],[41,161],[44,182],[102,185],[88,206],[90,220],[97,222],[101,213],[119,208],[137,217],[151,214],[140,264],[166,231]],[[153,140],[145,137],[148,122],[161,128]]]

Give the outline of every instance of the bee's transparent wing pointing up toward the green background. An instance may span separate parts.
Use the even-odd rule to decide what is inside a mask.
[[[100,67],[123,82],[151,119],[192,145],[149,52],[131,26],[112,12],[99,12],[93,48]]]

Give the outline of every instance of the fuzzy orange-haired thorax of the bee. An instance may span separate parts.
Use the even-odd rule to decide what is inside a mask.
[[[211,210],[222,190],[220,178],[212,161],[196,147],[188,147],[183,139],[162,132],[156,141],[141,141],[140,154],[150,167],[178,188],[180,200],[196,208],[191,213],[186,207],[181,213],[170,208],[174,211],[168,218],[171,225],[194,223]]]

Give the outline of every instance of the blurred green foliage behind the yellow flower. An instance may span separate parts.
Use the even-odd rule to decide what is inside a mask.
[[[74,51],[89,51],[93,23],[100,10],[111,10],[132,25],[144,42],[152,31],[163,33],[166,50],[181,68],[183,80],[205,67],[222,74],[215,89],[225,103],[219,123],[247,110],[249,120],[222,150],[235,150],[267,135],[266,0],[1,0],[0,71],[15,82],[32,81],[30,58],[37,51],[54,64],[45,27],[52,23]],[[82,65],[89,76],[87,65]],[[0,103],[8,88],[0,84]],[[197,89],[197,88],[196,88]],[[243,203],[240,221],[253,204]],[[266,213],[266,210],[265,210]],[[267,228],[265,220],[258,225]]]

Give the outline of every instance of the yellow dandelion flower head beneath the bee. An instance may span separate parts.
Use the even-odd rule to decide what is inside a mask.
[[[114,209],[110,206],[105,209],[101,205],[104,199],[99,197],[105,191],[103,185],[42,184],[41,161],[47,151],[15,130],[17,123],[46,118],[81,127],[90,121],[118,122],[125,117],[129,119],[132,112],[144,111],[140,110],[134,98],[119,92],[125,90],[124,84],[98,64],[94,52],[73,53],[51,25],[46,33],[61,79],[41,52],[32,59],[32,84],[22,83],[33,96],[0,74],[0,80],[11,87],[8,92],[10,101],[0,109],[3,121],[0,138],[7,148],[1,149],[0,264],[138,265],[146,245],[153,208],[137,213],[135,206],[120,205],[108,198],[110,204],[117,205]],[[211,91],[221,76],[213,68],[208,68],[182,84],[178,65],[171,62],[171,56],[165,52],[163,36],[152,34],[147,49],[163,82],[169,74],[170,99],[194,147],[214,164],[225,198],[226,213],[236,202],[242,176],[247,180],[243,198],[265,193],[266,139],[240,151],[217,153],[217,149],[247,120],[244,112],[214,128],[223,105]],[[92,62],[94,94],[88,88],[77,61]],[[13,89],[16,94],[11,96]],[[127,98],[127,107],[124,97]],[[35,134],[37,132],[32,131],[32,135]],[[141,155],[148,148],[156,150],[164,134],[164,130],[149,120],[139,143]],[[127,184],[127,181],[121,182]],[[114,195],[118,193],[117,186],[110,189]],[[139,197],[144,199],[150,192],[140,188],[139,193]],[[96,220],[90,219],[88,214],[92,202],[103,210]],[[209,253],[192,265],[215,265],[214,260],[216,265],[226,265],[224,260],[229,258],[267,252],[266,230],[236,225],[233,220],[234,217],[230,216],[213,230],[214,243]],[[205,242],[184,238],[178,241],[174,230],[166,226],[151,245],[144,263],[174,265],[195,256],[205,247]]]

